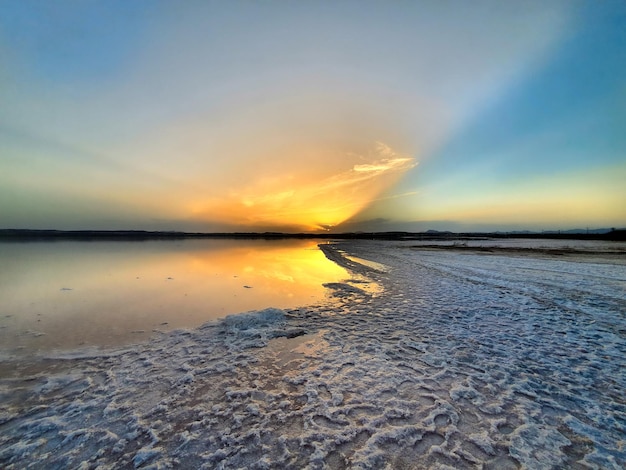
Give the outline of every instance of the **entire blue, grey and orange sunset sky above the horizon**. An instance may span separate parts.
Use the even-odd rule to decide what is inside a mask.
[[[0,0],[0,228],[626,227],[626,2]]]

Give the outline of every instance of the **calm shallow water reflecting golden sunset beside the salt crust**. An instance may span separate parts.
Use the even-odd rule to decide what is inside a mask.
[[[113,345],[325,297],[347,272],[313,241],[0,244],[4,351]]]

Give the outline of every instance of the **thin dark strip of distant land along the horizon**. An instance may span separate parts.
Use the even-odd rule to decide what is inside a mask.
[[[350,232],[350,233],[280,233],[280,232],[233,232],[199,233],[175,231],[144,230],[26,230],[2,229],[2,241],[50,241],[50,240],[182,240],[193,238],[230,238],[230,239],[362,239],[362,240],[476,240],[485,238],[531,238],[563,240],[626,240],[626,229],[612,229],[606,233],[558,233],[558,232],[491,232],[491,233],[453,233],[453,232]]]

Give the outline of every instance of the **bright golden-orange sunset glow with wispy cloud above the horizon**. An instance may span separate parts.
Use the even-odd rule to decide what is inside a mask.
[[[363,210],[381,192],[415,166],[378,142],[372,158],[325,178],[307,175],[259,179],[249,187],[192,208],[194,218],[248,227],[329,229]]]

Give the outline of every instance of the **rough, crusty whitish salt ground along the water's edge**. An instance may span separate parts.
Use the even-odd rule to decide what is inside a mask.
[[[21,364],[0,465],[626,466],[623,266],[338,247],[387,266],[323,247],[384,292]]]

